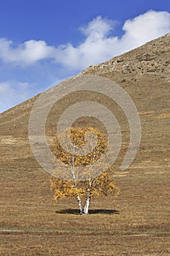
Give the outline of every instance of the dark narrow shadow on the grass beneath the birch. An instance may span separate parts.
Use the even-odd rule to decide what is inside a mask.
[[[80,211],[78,209],[63,209],[60,211],[55,211],[55,214],[76,214],[79,215]],[[119,214],[117,210],[110,209],[90,209],[89,214]]]

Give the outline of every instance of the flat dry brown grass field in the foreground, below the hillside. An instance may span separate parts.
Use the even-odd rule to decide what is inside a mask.
[[[47,173],[3,172],[1,255],[169,255],[170,178],[159,172],[115,176],[120,195],[92,200],[88,216],[55,203]]]

